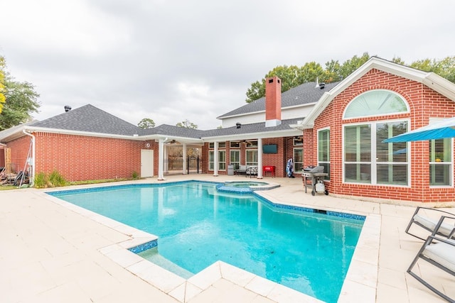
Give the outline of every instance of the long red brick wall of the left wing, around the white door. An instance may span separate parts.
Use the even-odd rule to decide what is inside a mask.
[[[141,172],[141,149],[146,142],[116,138],[34,133],[36,136],[35,171],[60,172],[68,181],[132,177]],[[158,172],[158,144],[154,149],[154,173]]]

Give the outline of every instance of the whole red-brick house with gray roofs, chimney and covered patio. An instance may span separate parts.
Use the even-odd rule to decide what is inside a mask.
[[[141,129],[86,105],[41,122],[0,132],[11,162],[32,163],[32,175],[58,170],[67,180],[157,176],[164,179],[170,142],[202,150],[202,171],[228,174],[228,165],[274,167],[288,158],[298,174],[322,165],[331,194],[420,202],[454,201],[451,139],[382,143],[438,119],[455,116],[455,84],[372,57],[341,82],[305,83],[281,92],[266,79],[266,97],[218,119],[208,131],[161,125]],[[267,172],[268,174],[268,172]]]

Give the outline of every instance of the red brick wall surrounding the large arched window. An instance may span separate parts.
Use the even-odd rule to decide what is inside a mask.
[[[343,112],[349,102],[358,94],[372,89],[389,89],[401,94],[410,106],[410,113],[388,116],[365,117],[343,121]],[[328,191],[334,194],[353,195],[357,197],[373,197],[382,199],[398,199],[416,202],[449,202],[454,201],[455,191],[449,188],[429,187],[429,148],[428,141],[411,143],[412,158],[411,186],[396,187],[369,184],[343,183],[343,123],[380,121],[390,119],[410,119],[410,129],[419,128],[429,123],[430,118],[449,118],[455,116],[455,103],[434,92],[429,87],[410,79],[371,70],[354,82],[331,101],[314,123],[314,131],[304,131],[304,142],[312,141],[312,155],[305,151],[305,162],[317,159],[317,130],[330,128],[330,160],[331,180],[326,183]],[[308,161],[310,163],[310,161]]]

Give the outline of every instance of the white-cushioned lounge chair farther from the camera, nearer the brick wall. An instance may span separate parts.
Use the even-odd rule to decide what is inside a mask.
[[[433,233],[436,230],[434,233],[435,235],[444,236],[446,238],[452,238],[455,233],[455,215],[441,209],[430,209],[419,206],[414,211],[405,232],[425,241],[424,238],[410,232],[410,228],[413,224],[426,229],[430,233]]]

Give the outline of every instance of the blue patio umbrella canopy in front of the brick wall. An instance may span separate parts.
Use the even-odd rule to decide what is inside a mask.
[[[455,137],[455,117],[445,119],[438,123],[433,123],[421,128],[408,131],[401,135],[385,139],[384,143],[425,141],[434,139],[454,138]]]

